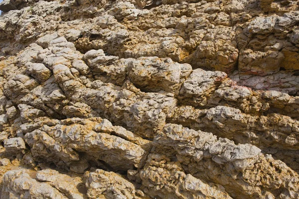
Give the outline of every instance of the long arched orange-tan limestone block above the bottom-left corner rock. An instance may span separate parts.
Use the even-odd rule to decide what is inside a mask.
[[[63,161],[75,166],[86,164],[84,156],[88,156],[95,162],[102,160],[119,170],[133,169],[134,166],[140,168],[149,143],[102,118],[72,118],[54,126],[43,125],[26,133],[24,139],[35,160],[43,159],[58,165]],[[86,165],[83,171],[88,168]]]

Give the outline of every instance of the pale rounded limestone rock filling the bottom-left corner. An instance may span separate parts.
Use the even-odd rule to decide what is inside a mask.
[[[80,178],[73,180],[53,170],[12,170],[3,176],[1,198],[83,199],[76,187],[80,183]]]

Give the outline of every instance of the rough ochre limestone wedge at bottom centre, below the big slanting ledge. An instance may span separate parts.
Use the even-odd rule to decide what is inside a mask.
[[[146,193],[158,198],[231,199],[222,186],[207,184],[185,174],[177,162],[160,154],[149,154],[145,168],[140,171]]]

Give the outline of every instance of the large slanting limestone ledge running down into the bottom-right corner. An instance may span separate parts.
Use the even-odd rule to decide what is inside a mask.
[[[156,136],[155,143],[158,146],[157,152],[171,157],[171,150],[163,152],[160,145],[174,149],[177,161],[191,175],[223,185],[232,197],[298,197],[298,191],[295,191],[298,189],[298,174],[291,169],[285,170],[287,166],[284,163],[273,160],[271,156],[265,157],[259,148],[250,144],[235,145],[228,139],[217,140],[211,133],[190,130],[176,124],[167,124],[163,132]],[[286,173],[282,173],[282,170]],[[230,175],[224,177],[223,173]],[[284,181],[286,176],[294,178],[294,186],[289,187]],[[259,183],[261,178],[265,179],[263,185]],[[277,193],[277,186],[284,191]]]

